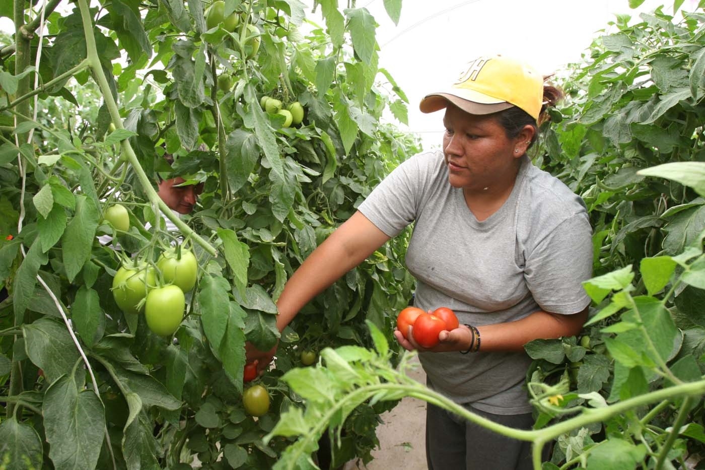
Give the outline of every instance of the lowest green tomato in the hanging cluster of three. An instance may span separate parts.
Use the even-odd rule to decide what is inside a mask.
[[[149,330],[159,336],[171,336],[183,320],[186,301],[176,285],[152,289],[145,301],[145,320]]]

